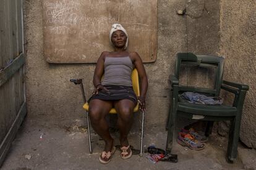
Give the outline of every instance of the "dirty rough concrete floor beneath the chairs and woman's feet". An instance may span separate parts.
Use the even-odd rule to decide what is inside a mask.
[[[166,132],[158,132],[154,127],[145,133],[145,148],[151,143],[165,147]],[[118,144],[118,133],[112,134]],[[139,148],[139,132],[131,132],[129,139],[131,145]],[[25,121],[1,169],[256,169],[255,150],[242,146],[236,162],[227,163],[226,139],[221,137],[211,136],[200,151],[174,143],[173,153],[178,154],[179,162],[156,164],[147,160],[147,153],[142,158],[133,155],[129,160],[122,160],[116,151],[111,162],[103,165],[98,161],[103,140],[94,133],[92,140],[93,154],[89,154],[87,129],[82,126],[42,127]]]

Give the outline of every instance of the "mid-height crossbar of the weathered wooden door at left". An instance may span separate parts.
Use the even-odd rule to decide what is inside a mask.
[[[20,67],[22,67],[24,63],[25,59],[22,53],[11,63],[11,65],[9,65],[7,68],[4,68],[4,70],[0,72],[0,86],[6,83],[6,81],[10,79],[12,75],[14,75],[14,73],[18,71]]]

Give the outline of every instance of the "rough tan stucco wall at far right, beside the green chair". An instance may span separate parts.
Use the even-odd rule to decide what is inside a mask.
[[[226,57],[224,79],[250,86],[244,103],[241,140],[256,148],[256,1],[221,0],[220,54]]]

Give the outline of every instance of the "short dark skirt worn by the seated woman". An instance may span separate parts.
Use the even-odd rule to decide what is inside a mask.
[[[137,105],[137,96],[132,87],[128,86],[104,86],[108,91],[99,91],[98,94],[93,94],[88,100],[100,99],[100,100],[122,100],[129,99]]]

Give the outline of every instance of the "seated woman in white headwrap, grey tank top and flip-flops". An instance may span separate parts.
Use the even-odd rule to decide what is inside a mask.
[[[118,113],[117,127],[120,132],[121,158],[132,156],[132,150],[127,139],[133,122],[133,110],[140,103],[140,110],[145,110],[145,97],[148,79],[142,59],[137,52],[126,51],[128,34],[120,24],[112,25],[109,39],[114,51],[102,52],[96,63],[93,84],[95,93],[89,100],[89,114],[92,127],[105,141],[104,151],[100,155],[101,163],[108,163],[114,153],[114,139],[109,134],[109,126],[105,119],[111,108]],[[131,73],[137,68],[141,80],[139,99],[132,88]],[[104,74],[104,78],[101,77]]]

